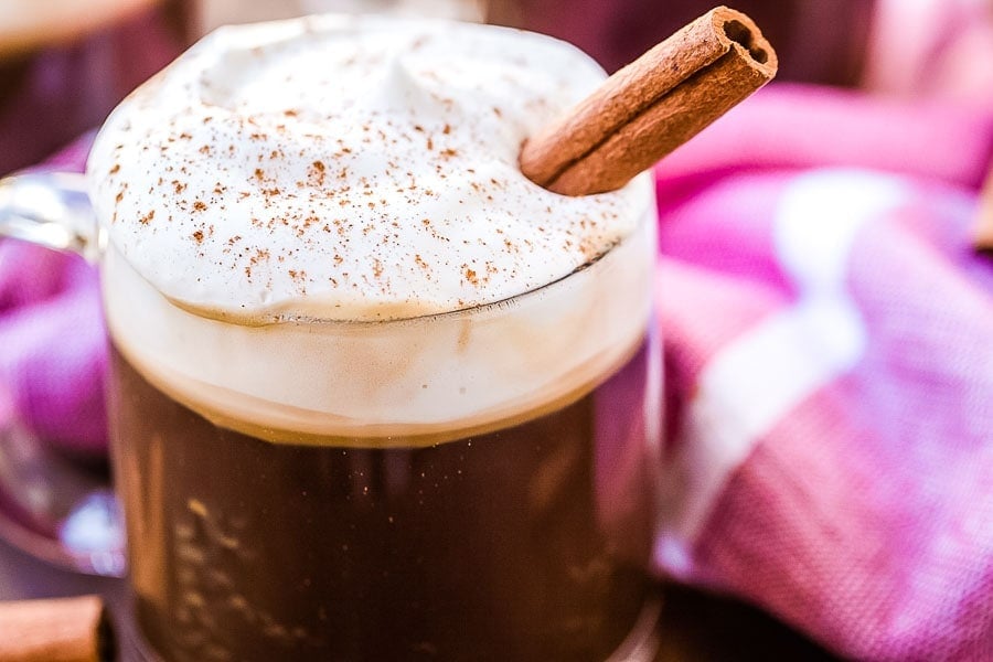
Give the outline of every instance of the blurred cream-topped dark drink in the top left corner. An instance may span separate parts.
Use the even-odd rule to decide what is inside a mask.
[[[195,36],[195,0],[3,0],[0,174],[99,126]]]

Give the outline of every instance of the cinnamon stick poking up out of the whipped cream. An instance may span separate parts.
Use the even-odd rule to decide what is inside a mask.
[[[747,15],[712,9],[528,138],[521,171],[564,195],[615,191],[776,75]]]

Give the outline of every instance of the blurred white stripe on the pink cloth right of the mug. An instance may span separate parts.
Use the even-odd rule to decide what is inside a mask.
[[[797,405],[863,355],[865,325],[845,291],[848,256],[863,224],[908,199],[897,178],[858,170],[816,170],[788,185],[773,239],[799,298],[701,371],[663,467],[654,553],[663,573],[692,574],[694,545],[734,471]]]

